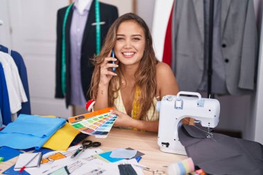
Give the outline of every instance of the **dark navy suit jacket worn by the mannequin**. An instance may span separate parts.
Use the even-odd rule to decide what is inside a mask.
[[[100,41],[102,42],[111,24],[118,17],[118,9],[115,6],[106,3],[100,4]],[[56,87],[55,98],[64,98],[66,96],[66,107],[71,103],[71,44],[70,44],[70,28],[73,17],[73,9],[69,10],[69,16],[66,21],[66,94],[62,93],[62,26],[66,9],[62,8],[57,12],[57,48],[56,48]],[[86,96],[90,86],[91,77],[93,73],[93,65],[91,58],[96,54],[96,16],[95,16],[95,1],[92,1],[87,17],[87,23],[84,28],[84,34],[81,44],[81,82],[83,95]]]

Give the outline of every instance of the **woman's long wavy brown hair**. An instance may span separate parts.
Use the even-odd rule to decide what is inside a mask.
[[[100,64],[104,61],[105,57],[109,55],[111,49],[114,48],[116,44],[116,35],[118,27],[120,26],[123,21],[135,21],[139,24],[145,33],[145,52],[143,54],[143,58],[140,60],[140,65],[138,70],[136,71],[135,77],[135,85],[140,87],[140,111],[138,113],[137,118],[139,120],[143,118],[148,118],[147,111],[151,107],[152,100],[156,95],[156,64],[157,59],[155,57],[154,48],[152,47],[152,36],[149,32],[149,28],[143,19],[135,15],[134,13],[127,13],[122,15],[114,21],[114,24],[111,25],[107,36],[105,38],[105,42],[102,46],[100,51],[100,55],[97,55],[93,58],[93,64],[95,66],[92,80],[91,80],[91,87],[90,87],[90,95],[92,98],[96,99],[98,94],[98,84],[100,81]],[[119,62],[119,68],[116,68],[117,76],[111,78],[109,82],[109,107],[114,106],[114,100],[118,97],[118,90],[120,89],[120,84],[122,80],[123,74],[120,72],[122,64]],[[134,86],[135,87],[135,86]]]

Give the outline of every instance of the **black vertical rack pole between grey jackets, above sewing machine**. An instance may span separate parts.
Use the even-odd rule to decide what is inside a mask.
[[[212,35],[214,26],[214,0],[210,0],[209,7],[209,36],[208,36],[208,98],[215,98],[212,94]]]

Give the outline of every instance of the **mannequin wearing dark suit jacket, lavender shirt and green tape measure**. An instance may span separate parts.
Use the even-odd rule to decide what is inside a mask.
[[[84,108],[85,101],[90,99],[87,93],[93,73],[91,59],[98,50],[97,41],[101,44],[109,27],[118,18],[116,6],[97,2],[101,22],[99,39],[96,38],[97,27],[93,25],[96,24],[96,0],[75,0],[74,4],[57,11],[55,98],[66,98],[66,107],[73,105]],[[87,8],[88,15],[84,16]]]

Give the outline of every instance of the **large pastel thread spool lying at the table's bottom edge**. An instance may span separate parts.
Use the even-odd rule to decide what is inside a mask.
[[[181,162],[172,163],[167,168],[167,174],[169,175],[184,175],[190,172],[194,172],[194,162],[192,158],[186,158]]]

